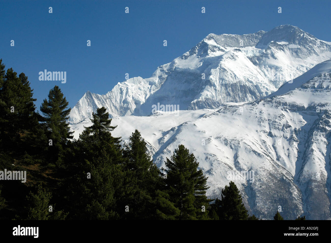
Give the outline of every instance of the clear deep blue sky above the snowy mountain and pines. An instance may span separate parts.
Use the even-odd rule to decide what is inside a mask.
[[[248,34],[291,24],[331,41],[330,7],[331,1],[302,0],[5,0],[0,4],[0,58],[6,69],[28,76],[37,110],[54,85],[60,86],[73,107],[88,90],[107,93],[125,80],[125,73],[150,77],[158,66],[190,50],[209,33]],[[38,73],[44,69],[66,71],[67,82],[39,81]]]

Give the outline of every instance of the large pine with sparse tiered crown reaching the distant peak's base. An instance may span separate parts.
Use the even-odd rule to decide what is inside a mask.
[[[101,122],[100,122],[101,121]],[[73,142],[68,168],[68,211],[71,219],[119,219],[127,204],[120,138],[111,135],[111,119],[104,108],[93,113],[92,126],[85,127]],[[119,213],[118,213],[119,212]]]

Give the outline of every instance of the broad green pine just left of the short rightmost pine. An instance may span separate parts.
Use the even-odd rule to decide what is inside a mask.
[[[198,170],[199,163],[184,145],[179,145],[166,160],[166,193],[169,201],[180,210],[178,219],[208,219],[207,177]],[[203,206],[205,211],[203,211]]]

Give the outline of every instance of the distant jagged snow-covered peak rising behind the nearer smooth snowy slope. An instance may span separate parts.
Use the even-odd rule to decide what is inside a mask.
[[[197,110],[250,102],[330,58],[330,42],[291,25],[245,35],[209,34],[150,78],[130,78],[104,95],[86,92],[70,122],[91,118],[102,106],[117,117],[150,115],[158,103]]]

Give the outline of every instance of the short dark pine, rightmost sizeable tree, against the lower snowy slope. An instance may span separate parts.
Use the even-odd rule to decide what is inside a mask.
[[[220,220],[247,220],[248,214],[242,202],[236,184],[230,181],[229,186],[222,189],[221,200],[215,199],[213,208]]]

